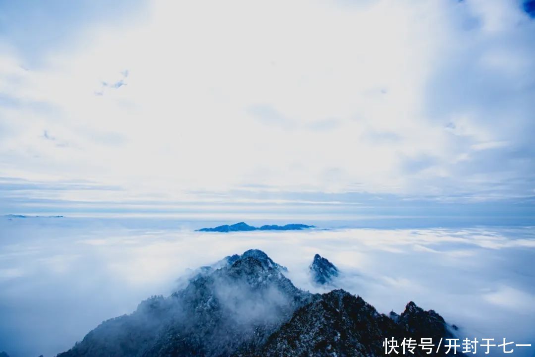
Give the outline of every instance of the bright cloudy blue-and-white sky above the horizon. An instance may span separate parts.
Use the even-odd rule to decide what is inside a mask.
[[[0,213],[531,219],[534,9],[0,0]]]

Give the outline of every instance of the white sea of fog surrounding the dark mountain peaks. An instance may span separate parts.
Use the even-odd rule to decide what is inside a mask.
[[[331,229],[338,225],[323,222],[312,231],[193,231],[213,225],[0,217],[0,351],[53,356],[151,295],[171,294],[191,269],[250,248],[285,265],[303,290],[341,287],[381,313],[401,313],[412,300],[459,326],[462,337],[535,344],[533,227]],[[310,280],[316,253],[341,271],[331,286]],[[236,301],[235,291],[219,293]],[[261,305],[237,316],[256,321]],[[514,353],[531,356],[533,348]]]

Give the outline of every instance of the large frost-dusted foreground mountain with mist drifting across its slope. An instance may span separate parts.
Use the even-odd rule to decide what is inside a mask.
[[[311,266],[332,272],[325,261],[318,255]],[[132,314],[103,322],[58,357],[378,357],[387,338],[454,336],[439,314],[414,302],[389,317],[343,290],[300,290],[285,271],[261,250],[227,256],[169,297],[152,297]],[[443,344],[412,355],[444,353]]]

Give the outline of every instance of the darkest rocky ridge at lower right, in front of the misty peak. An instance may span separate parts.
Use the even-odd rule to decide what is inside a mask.
[[[442,317],[432,310],[425,312],[414,302],[408,303],[396,323],[362,298],[333,290],[298,309],[261,350],[240,356],[384,356],[385,338],[401,344],[403,337],[419,343],[421,337],[439,341],[453,335]],[[401,347],[398,351],[401,353]],[[426,354],[416,348],[414,355],[444,355],[445,351],[441,348],[438,354]]]

